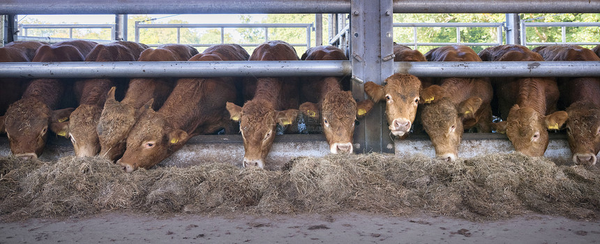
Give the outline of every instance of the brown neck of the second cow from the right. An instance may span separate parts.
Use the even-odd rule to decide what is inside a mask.
[[[537,78],[521,78],[517,104],[519,107],[531,107],[539,114],[546,114],[546,84]]]

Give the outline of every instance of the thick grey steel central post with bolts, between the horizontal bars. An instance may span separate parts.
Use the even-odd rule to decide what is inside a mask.
[[[392,0],[355,0],[350,12],[352,61],[352,95],[357,100],[368,99],[361,82],[383,84],[393,74],[393,8]],[[357,152],[393,153],[393,140],[384,125],[385,105],[378,103],[354,132]]]

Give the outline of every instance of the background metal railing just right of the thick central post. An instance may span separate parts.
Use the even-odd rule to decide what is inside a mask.
[[[417,49],[418,46],[444,46],[444,45],[467,45],[467,46],[494,46],[494,45],[502,45],[504,41],[504,23],[393,23],[393,27],[412,27],[412,42],[410,43],[400,43],[396,42],[400,45],[412,45],[413,49]],[[423,27],[449,27],[456,28],[456,42],[447,42],[447,43],[419,43],[418,39],[418,28]],[[474,28],[474,27],[483,27],[483,28],[496,28],[497,29],[497,42],[496,43],[464,43],[462,42],[460,28]]]

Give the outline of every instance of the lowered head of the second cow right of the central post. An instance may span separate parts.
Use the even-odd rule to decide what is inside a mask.
[[[481,98],[472,97],[455,106],[449,98],[442,98],[423,108],[421,122],[433,143],[437,158],[448,162],[458,158],[458,146],[463,139],[463,121],[472,119],[481,103]]]

